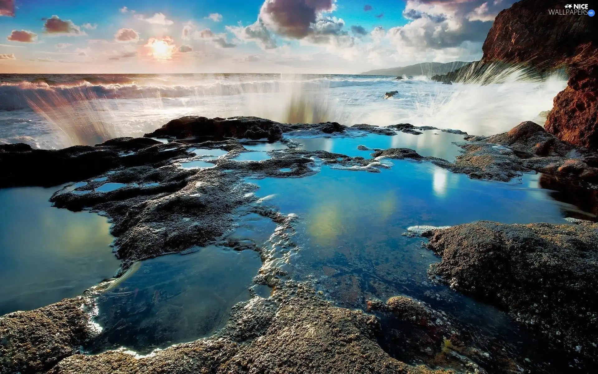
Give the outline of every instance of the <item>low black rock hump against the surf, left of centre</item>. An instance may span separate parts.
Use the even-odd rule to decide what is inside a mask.
[[[279,140],[283,124],[258,117],[206,118],[187,116],[176,118],[160,129],[145,134],[152,138],[245,138]]]

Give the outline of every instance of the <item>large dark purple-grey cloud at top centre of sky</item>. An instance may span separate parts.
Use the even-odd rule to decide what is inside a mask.
[[[335,10],[336,0],[266,0],[260,19],[277,34],[301,39],[313,33],[322,13]]]

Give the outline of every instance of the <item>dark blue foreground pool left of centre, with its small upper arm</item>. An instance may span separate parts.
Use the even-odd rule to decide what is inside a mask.
[[[276,227],[256,214],[241,216],[227,241],[260,245]],[[103,330],[89,351],[124,346],[148,353],[195,340],[223,327],[231,307],[250,298],[261,266],[256,251],[218,244],[185,253],[135,263],[97,297]]]

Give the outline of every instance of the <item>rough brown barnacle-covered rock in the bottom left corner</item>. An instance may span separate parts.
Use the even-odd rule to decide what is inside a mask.
[[[94,335],[83,297],[0,317],[0,373],[45,373]]]

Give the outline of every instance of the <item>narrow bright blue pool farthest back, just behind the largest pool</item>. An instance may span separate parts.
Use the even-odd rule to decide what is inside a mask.
[[[454,160],[460,154],[461,148],[452,142],[463,141],[463,135],[442,132],[440,130],[425,130],[421,135],[399,132],[396,135],[379,135],[367,133],[364,136],[328,136],[318,138],[292,138],[293,142],[301,144],[300,149],[307,151],[323,150],[347,156],[361,156],[370,158],[371,150],[358,150],[358,145],[368,148],[411,148],[422,156],[440,157]]]

